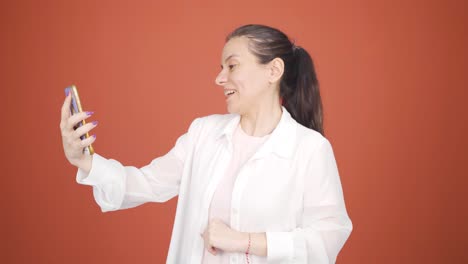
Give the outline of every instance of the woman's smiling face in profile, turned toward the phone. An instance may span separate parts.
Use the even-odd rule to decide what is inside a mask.
[[[216,84],[224,89],[228,112],[238,114],[255,110],[273,90],[268,89],[268,67],[257,63],[246,37],[232,38],[224,45]]]

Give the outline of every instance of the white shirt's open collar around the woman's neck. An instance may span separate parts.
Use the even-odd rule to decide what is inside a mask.
[[[294,151],[294,145],[296,141],[296,129],[297,122],[286,110],[284,106],[281,106],[283,112],[281,119],[278,122],[276,128],[271,132],[271,135],[266,139],[264,144],[254,154],[253,159],[262,158],[269,153],[275,153],[284,158],[292,157]],[[221,127],[216,134],[216,139],[224,138],[226,142],[232,146],[232,137],[235,128],[239,125],[240,115],[234,114],[230,117],[230,120],[224,127]]]

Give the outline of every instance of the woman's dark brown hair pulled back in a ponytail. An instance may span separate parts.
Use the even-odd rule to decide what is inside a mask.
[[[243,36],[249,39],[249,51],[260,64],[267,64],[277,57],[283,60],[284,73],[280,80],[283,106],[298,123],[325,136],[322,99],[309,53],[280,30],[258,24],[235,29],[226,37],[226,42]]]

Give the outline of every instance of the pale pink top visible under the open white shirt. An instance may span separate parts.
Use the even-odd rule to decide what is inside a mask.
[[[255,153],[260,145],[270,136],[254,137],[247,135],[241,128],[240,122],[233,135],[234,152],[224,178],[218,184],[210,205],[209,220],[219,218],[228,226],[231,223],[231,196],[237,172],[240,167]],[[217,251],[216,256],[205,249],[203,264],[229,264],[231,252]]]

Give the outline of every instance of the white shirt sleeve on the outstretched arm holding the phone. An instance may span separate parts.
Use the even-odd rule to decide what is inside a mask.
[[[102,212],[168,201],[179,193],[185,157],[191,151],[199,123],[200,118],[194,119],[188,132],[177,139],[167,154],[140,168],[94,153],[91,170],[87,174],[78,168],[76,182],[93,187],[94,199]]]

